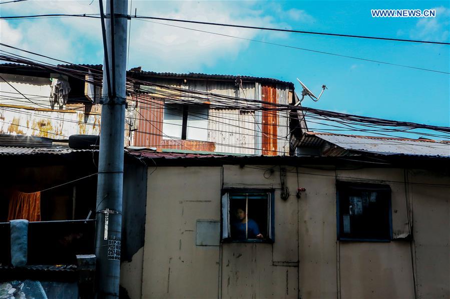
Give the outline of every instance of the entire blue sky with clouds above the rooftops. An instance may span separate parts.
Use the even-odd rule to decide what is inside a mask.
[[[98,13],[94,1],[25,1],[2,4],[2,15]],[[130,3],[130,1],[129,1]],[[138,1],[138,15],[196,19],[299,30],[450,41],[448,1]],[[372,18],[370,9],[436,8],[435,18]],[[166,22],[168,23],[168,22]],[[2,42],[74,63],[102,63],[100,22],[86,18],[11,20]],[[313,50],[450,71],[450,46],[367,40],[172,23]],[[312,53],[131,21],[129,67],[161,72],[273,77],[313,92],[304,106],[366,116],[450,126],[450,75]],[[3,49],[3,48],[2,48]]]

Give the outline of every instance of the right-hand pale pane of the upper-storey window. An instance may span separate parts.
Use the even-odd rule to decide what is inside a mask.
[[[186,139],[208,140],[208,107],[189,106]]]

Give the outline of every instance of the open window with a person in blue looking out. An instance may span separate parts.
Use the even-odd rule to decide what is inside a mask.
[[[273,190],[228,189],[222,195],[222,241],[274,241]]]

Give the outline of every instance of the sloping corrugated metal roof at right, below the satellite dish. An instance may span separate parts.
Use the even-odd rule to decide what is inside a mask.
[[[450,158],[450,143],[448,141],[312,132],[308,132],[306,135],[316,136],[347,150],[366,151],[384,155],[402,154]]]

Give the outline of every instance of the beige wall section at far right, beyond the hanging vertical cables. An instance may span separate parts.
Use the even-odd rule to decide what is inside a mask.
[[[408,179],[417,297],[450,298],[450,179],[420,170],[411,171]]]

